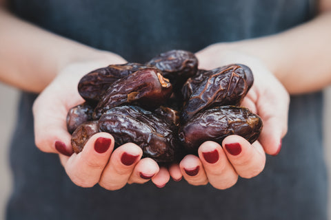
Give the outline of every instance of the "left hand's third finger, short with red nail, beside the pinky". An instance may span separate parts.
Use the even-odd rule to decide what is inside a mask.
[[[144,184],[159,173],[159,165],[154,159],[143,158],[134,167],[132,174],[128,180],[129,184]]]

